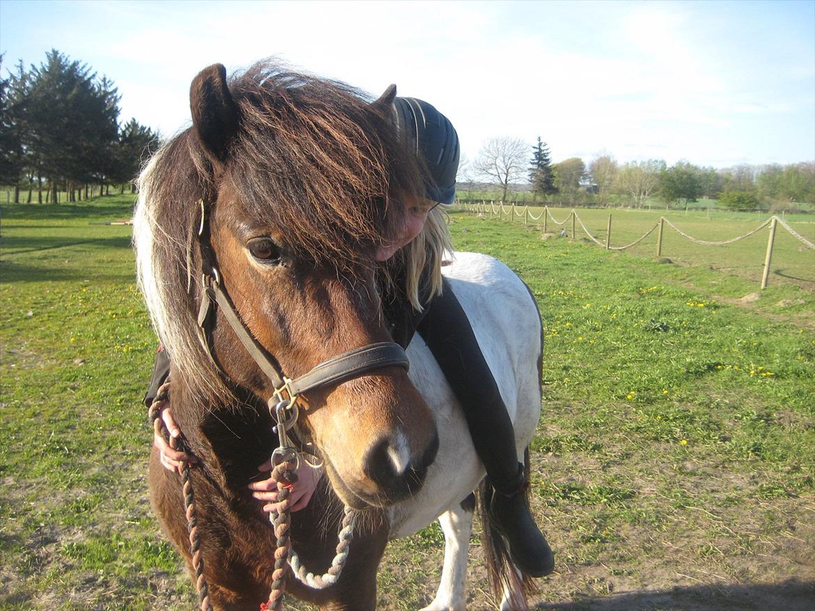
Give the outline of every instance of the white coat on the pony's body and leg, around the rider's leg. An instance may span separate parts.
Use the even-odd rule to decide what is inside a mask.
[[[529,445],[540,418],[540,318],[518,276],[486,255],[456,253],[442,268],[464,308],[478,345],[500,389],[515,431],[518,455]],[[437,516],[445,536],[442,581],[426,609],[464,609],[469,528],[461,499],[478,487],[484,467],[478,459],[464,412],[430,349],[416,335],[407,348],[408,376],[420,390],[438,429],[438,455],[421,490],[388,510],[390,538],[415,533]],[[522,594],[504,583],[500,609],[526,609]],[[514,599],[514,600],[513,600]],[[507,605],[516,604],[516,607]]]

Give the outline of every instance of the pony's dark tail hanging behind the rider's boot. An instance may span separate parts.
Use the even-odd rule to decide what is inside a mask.
[[[529,473],[529,448],[523,453],[526,473]],[[490,503],[496,489],[490,478],[484,477],[478,485],[478,505],[483,530],[484,560],[487,561],[487,574],[490,578],[492,594],[501,600],[504,591],[509,593],[509,609],[526,609],[526,596],[538,591],[535,580],[527,574],[520,573],[509,558],[509,549],[504,537],[490,520]],[[529,503],[529,488],[522,493]]]

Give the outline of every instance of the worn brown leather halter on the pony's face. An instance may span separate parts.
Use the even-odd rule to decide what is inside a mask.
[[[202,277],[203,295],[198,310],[201,345],[204,346],[204,349],[212,358],[209,351],[211,343],[209,314],[212,312],[213,306],[218,306],[249,356],[258,364],[263,374],[271,380],[272,385],[275,387],[271,397],[267,400],[270,411],[274,411],[275,407],[282,402],[288,402],[286,408],[294,408],[297,396],[301,393],[323,386],[341,384],[341,382],[362,376],[369,371],[381,369],[382,367],[398,366],[404,367],[405,370],[410,367],[407,354],[402,346],[393,341],[381,341],[375,344],[363,345],[328,358],[313,367],[311,371],[307,371],[294,380],[286,377],[283,371],[280,371],[280,367],[274,362],[274,359],[267,354],[262,345],[249,332],[245,323],[240,319],[235,306],[232,305],[226,289],[222,287],[218,268],[214,264],[212,246],[209,244],[209,222],[207,222],[208,219],[205,216],[203,200],[200,200],[200,207],[201,224],[198,235],[202,265],[205,270]]]

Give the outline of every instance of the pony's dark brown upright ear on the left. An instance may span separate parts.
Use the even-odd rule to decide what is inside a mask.
[[[222,64],[204,68],[192,79],[190,111],[205,152],[215,163],[222,163],[238,130],[238,107],[227,87],[227,69]]]

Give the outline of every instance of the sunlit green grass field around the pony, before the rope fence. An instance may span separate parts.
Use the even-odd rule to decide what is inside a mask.
[[[0,609],[193,606],[147,502],[140,399],[156,341],[130,228],[90,224],[131,206],[0,208]],[[773,277],[756,296],[753,280],[707,265],[451,222],[458,248],[526,280],[544,318],[533,509],[557,571],[537,608],[811,609],[811,284]],[[664,256],[681,258],[667,242]],[[435,525],[392,543],[380,608],[428,604],[442,550]],[[468,596],[470,609],[491,602],[478,536]]]

